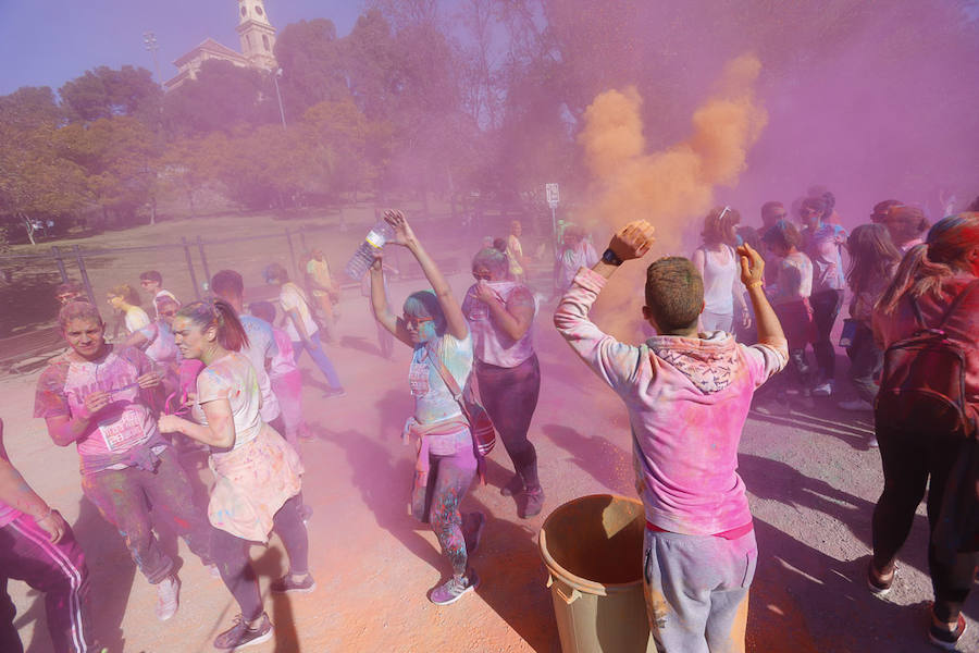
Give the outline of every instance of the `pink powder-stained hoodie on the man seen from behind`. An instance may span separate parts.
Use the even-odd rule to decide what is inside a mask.
[[[587,318],[605,283],[579,270],[554,323],[625,403],[646,519],[690,535],[748,523],[738,444],[755,390],[788,362],[785,345],[748,347],[722,332],[620,343]]]

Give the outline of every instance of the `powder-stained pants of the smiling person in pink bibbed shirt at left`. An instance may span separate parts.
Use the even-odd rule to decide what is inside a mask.
[[[165,447],[153,471],[136,467],[107,469],[82,477],[82,491],[125,539],[133,560],[157,584],[173,570],[173,560],[153,534],[150,506],[157,519],[181,534],[205,564],[210,564],[210,530],[203,510],[194,503],[190,481],[176,454]]]

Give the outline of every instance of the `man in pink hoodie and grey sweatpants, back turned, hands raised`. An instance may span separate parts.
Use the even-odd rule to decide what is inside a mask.
[[[704,282],[680,257],[646,271],[643,317],[657,334],[640,346],[588,320],[607,280],[653,243],[646,221],[628,224],[591,269],[578,271],[554,315],[571,348],[625,403],[636,488],[646,512],[644,587],[661,653],[744,651],[757,545],[738,444],[752,395],[789,360],[782,328],[761,288],[765,263],[738,248],[755,308],[758,344],[697,333]]]

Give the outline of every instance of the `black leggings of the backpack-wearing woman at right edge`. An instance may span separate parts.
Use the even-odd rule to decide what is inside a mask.
[[[873,566],[883,569],[894,560],[907,539],[926,484],[929,533],[934,532],[945,484],[962,441],[942,433],[901,429],[882,423],[880,418],[877,441],[884,489],[873,508]],[[959,554],[951,564],[942,562],[929,538],[928,569],[934,590],[934,616],[940,620],[951,624],[958,617],[972,587],[976,562],[975,554]]]

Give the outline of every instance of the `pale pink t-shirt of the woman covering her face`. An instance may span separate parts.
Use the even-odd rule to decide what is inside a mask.
[[[485,282],[499,299],[511,306],[511,301],[534,305],[534,297],[525,285],[512,281]],[[515,368],[534,355],[533,324],[520,340],[513,340],[500,329],[490,313],[490,307],[475,298],[475,284],[470,286],[462,299],[462,315],[472,332],[472,353],[480,362],[501,368]]]

